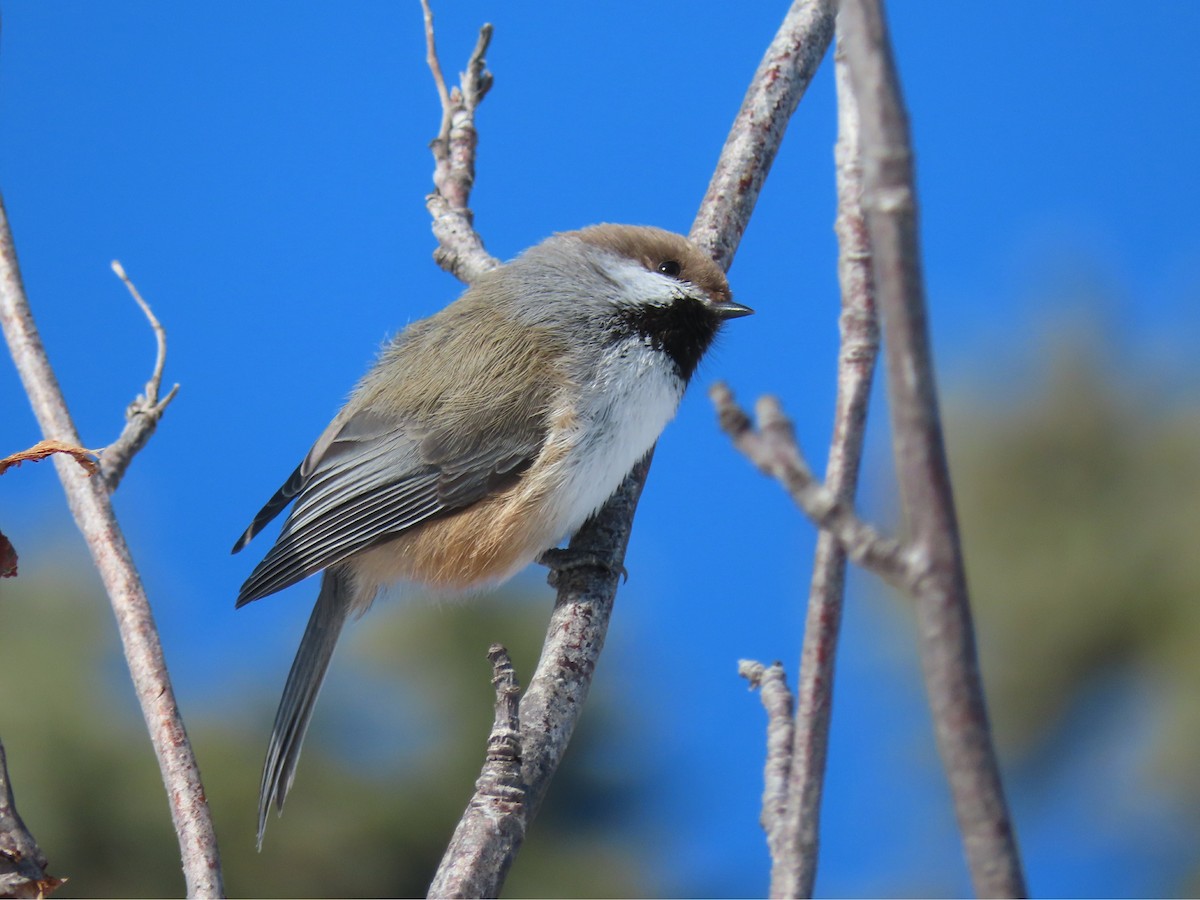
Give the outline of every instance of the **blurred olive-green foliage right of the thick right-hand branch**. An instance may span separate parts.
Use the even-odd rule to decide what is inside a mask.
[[[1195,391],[1164,390],[1084,330],[1057,336],[1020,379],[952,398],[946,422],[1002,750],[1052,752],[1084,698],[1136,679],[1158,707],[1146,774],[1195,804]]]

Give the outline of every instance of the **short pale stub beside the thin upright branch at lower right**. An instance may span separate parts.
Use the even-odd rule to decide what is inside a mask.
[[[762,829],[770,847],[772,878],[787,865],[791,848],[786,841],[787,793],[792,769],[792,691],[787,688],[784,666],[764,666],[754,660],[738,660],[738,674],[760,689],[767,710],[767,762],[762,773]]]

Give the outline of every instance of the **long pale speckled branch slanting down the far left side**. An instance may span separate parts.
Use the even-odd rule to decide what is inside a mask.
[[[29,395],[42,433],[80,446],[62,390],[34,324],[20,280],[8,216],[0,198],[0,326]],[[154,616],[121,533],[106,486],[78,472],[65,456],[54,457],[71,514],[83,533],[116,617],[126,664],[133,678],[170,803],[172,821],[191,896],[223,893],[216,834],[196,757],[167,674]]]

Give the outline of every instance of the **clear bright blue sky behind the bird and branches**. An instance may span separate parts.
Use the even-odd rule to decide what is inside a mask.
[[[785,6],[439,4],[448,72],[479,24],[496,25],[473,198],[488,250],[508,258],[599,221],[686,232]],[[1099,0],[893,6],[943,385],[1016,374],[1004,365],[1056,312],[1044,286],[1080,269],[1111,292],[1104,313],[1134,355],[1190,366],[1200,5],[1162,0],[1136,17]],[[430,258],[439,109],[422,41],[415,1],[4,10],[0,188],[85,443],[115,437],[152,361],[110,259],[169,330],[167,378],[182,388],[118,510],[185,714],[245,679],[282,685],[314,586],[235,613],[265,545],[228,548],[380,342],[460,292]],[[762,713],[734,666],[754,656],[794,670],[814,534],[732,451],[703,389],[724,378],[746,401],[782,395],[820,464],[836,354],[834,133],[824,67],[730,274],[758,314],[731,324],[660,444],[613,626],[613,677],[654,722],[648,752],[682,773],[644,815],[689,823],[674,865],[719,894],[766,889]],[[5,452],[37,439],[11,366],[0,413]],[[887,516],[886,466],[871,484],[869,510]],[[50,467],[0,481],[0,506],[23,577],[36,578],[70,529]],[[540,575],[523,583],[548,608]],[[925,884],[930,871],[962,890],[919,682],[911,654],[880,640],[902,626],[872,589],[851,581],[818,890]],[[703,760],[691,756],[701,745]],[[701,767],[720,773],[703,804]],[[1033,830],[1039,893],[1166,887],[1148,857],[1087,834],[1058,853],[1060,830]]]

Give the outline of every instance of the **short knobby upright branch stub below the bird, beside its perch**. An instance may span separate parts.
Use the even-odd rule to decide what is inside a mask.
[[[523,838],[521,685],[504,647],[493,643],[487,658],[496,686],[496,721],[487,738],[487,758],[475,794],[430,884],[430,896],[494,896]]]

